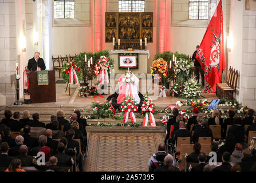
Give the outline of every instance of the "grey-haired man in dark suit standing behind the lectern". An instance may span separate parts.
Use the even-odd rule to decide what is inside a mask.
[[[45,70],[45,61],[44,59],[39,58],[39,55],[40,53],[36,51],[34,58],[29,59],[29,63],[27,63],[27,69],[30,71]]]

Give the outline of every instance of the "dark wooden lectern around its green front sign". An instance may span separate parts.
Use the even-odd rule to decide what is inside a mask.
[[[31,103],[56,102],[55,71],[49,70],[49,85],[37,84],[37,71],[29,73]]]

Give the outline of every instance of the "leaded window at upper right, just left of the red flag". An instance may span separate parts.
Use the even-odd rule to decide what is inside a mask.
[[[208,1],[190,0],[189,19],[208,19]]]

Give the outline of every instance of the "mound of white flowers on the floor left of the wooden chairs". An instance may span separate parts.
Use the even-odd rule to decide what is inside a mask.
[[[201,96],[201,90],[198,86],[198,83],[194,81],[194,79],[186,82],[182,96],[184,98],[199,98]]]

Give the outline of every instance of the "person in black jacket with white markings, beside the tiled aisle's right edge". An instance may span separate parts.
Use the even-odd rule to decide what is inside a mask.
[[[164,158],[171,154],[166,152],[166,145],[164,143],[159,144],[158,152],[153,154],[148,160],[148,171],[152,172],[156,168],[164,165]],[[174,162],[173,162],[174,163]]]

